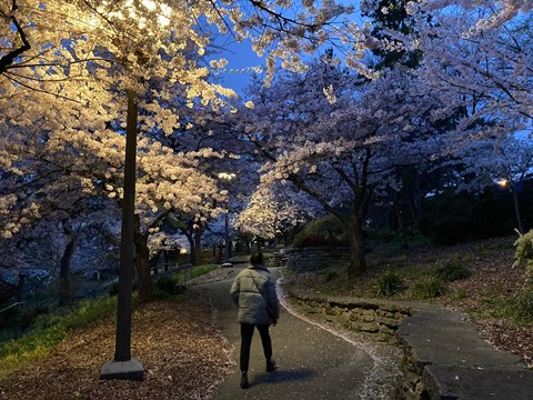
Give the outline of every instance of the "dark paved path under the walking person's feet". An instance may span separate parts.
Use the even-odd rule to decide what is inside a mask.
[[[279,272],[271,269],[276,279]],[[219,323],[234,347],[240,347],[237,307],[230,298],[231,280],[202,284],[219,311]],[[305,322],[282,308],[280,321],[271,328],[278,370],[266,373],[261,338],[255,331],[250,358],[250,388],[239,387],[239,367],[219,387],[213,399],[360,399],[373,361],[363,350]]]

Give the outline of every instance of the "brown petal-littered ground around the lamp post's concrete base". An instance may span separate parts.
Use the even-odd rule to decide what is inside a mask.
[[[157,301],[134,312],[132,356],[143,363],[142,382],[99,379],[114,353],[114,319],[108,319],[71,332],[48,358],[0,381],[0,398],[209,399],[233,361],[213,311],[197,300]]]

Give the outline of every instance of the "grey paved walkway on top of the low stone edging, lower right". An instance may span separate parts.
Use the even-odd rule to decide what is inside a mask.
[[[405,399],[532,399],[533,370],[483,340],[465,313],[410,307],[414,314],[396,331],[405,349]]]

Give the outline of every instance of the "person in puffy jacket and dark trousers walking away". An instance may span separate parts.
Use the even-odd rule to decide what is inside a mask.
[[[272,359],[272,340],[270,326],[275,326],[280,318],[280,303],[275,293],[275,283],[269,270],[263,266],[261,252],[250,256],[250,264],[235,277],[231,286],[231,298],[239,307],[238,322],[241,324],[241,388],[247,389],[248,368],[252,336],[258,328],[266,360],[266,372],[275,370]]]

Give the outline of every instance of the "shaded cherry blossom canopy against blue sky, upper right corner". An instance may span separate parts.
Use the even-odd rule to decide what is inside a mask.
[[[416,34],[396,34],[406,48],[424,54],[419,74],[447,104],[443,111],[461,111],[456,131],[463,143],[480,136],[531,130],[532,17],[520,13],[519,3],[463,2],[464,8],[440,11],[423,2],[411,10],[414,16],[428,12],[420,13]],[[428,16],[431,24],[425,22]]]

